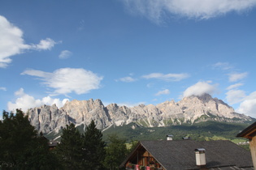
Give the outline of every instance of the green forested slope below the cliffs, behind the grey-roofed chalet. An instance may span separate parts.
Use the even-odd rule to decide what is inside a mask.
[[[178,120],[174,120],[178,123]],[[193,140],[215,140],[218,138],[235,139],[236,134],[244,130],[249,124],[228,123],[218,121],[204,121],[193,125],[170,125],[167,127],[143,127],[135,123],[123,126],[111,127],[104,130],[104,140],[109,134],[118,134],[119,138],[127,138],[128,142],[131,140],[158,140],[166,139],[167,134],[172,134],[175,140],[183,137],[190,137]],[[133,127],[136,127],[135,129]]]

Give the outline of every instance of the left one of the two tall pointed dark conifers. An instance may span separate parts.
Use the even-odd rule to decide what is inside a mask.
[[[63,129],[61,142],[56,147],[56,154],[64,169],[82,169],[82,136],[74,124]]]

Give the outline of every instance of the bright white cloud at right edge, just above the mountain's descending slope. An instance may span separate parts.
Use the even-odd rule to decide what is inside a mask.
[[[256,117],[256,91],[245,97],[245,100],[241,102],[239,108],[236,109],[236,112],[245,113],[250,117]]]

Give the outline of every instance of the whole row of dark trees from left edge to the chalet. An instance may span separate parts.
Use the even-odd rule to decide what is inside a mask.
[[[119,169],[128,154],[124,139],[109,135],[108,144],[94,121],[80,133],[74,124],[63,129],[62,138],[50,150],[48,139],[30,125],[19,109],[3,111],[0,121],[0,169]]]

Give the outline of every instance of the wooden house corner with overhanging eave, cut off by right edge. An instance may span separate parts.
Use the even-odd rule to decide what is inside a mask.
[[[236,137],[249,139],[251,157],[253,159],[254,169],[256,169],[256,122],[254,122],[252,125],[249,125],[247,128],[245,128],[245,130],[237,134]]]

